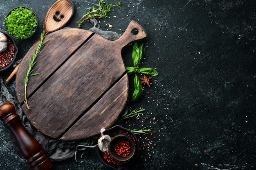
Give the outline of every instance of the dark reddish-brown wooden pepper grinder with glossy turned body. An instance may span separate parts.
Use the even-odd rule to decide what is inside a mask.
[[[13,104],[7,102],[0,106],[0,119],[15,137],[21,154],[33,170],[48,170],[53,166],[38,141],[22,125]]]

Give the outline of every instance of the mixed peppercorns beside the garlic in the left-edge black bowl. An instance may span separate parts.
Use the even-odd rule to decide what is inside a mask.
[[[15,48],[11,41],[8,40],[8,47],[6,50],[0,52],[0,69],[9,65],[15,54]]]

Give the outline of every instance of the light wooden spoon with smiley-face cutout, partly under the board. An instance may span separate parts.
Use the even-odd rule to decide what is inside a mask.
[[[57,31],[65,26],[67,22],[70,21],[72,15],[74,14],[74,4],[70,0],[57,0],[52,7],[49,9],[45,16],[45,22],[43,25],[43,31],[47,33],[52,33]],[[33,46],[39,41],[33,44]],[[32,46],[32,47],[33,47]],[[13,72],[5,81],[6,84],[12,80],[13,77],[16,76],[20,63],[16,66]]]

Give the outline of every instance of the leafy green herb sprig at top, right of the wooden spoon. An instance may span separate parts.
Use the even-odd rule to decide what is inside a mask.
[[[77,24],[77,28],[80,28],[81,25],[85,22],[85,21],[89,21],[89,19],[92,18],[106,18],[108,17],[108,12],[111,11],[112,7],[117,6],[119,9],[121,9],[121,2],[118,2],[118,4],[106,4],[106,2],[104,2],[104,0],[99,0],[99,4],[95,4],[98,8],[95,7],[89,7],[88,8],[88,12],[83,15],[83,17],[81,17],[81,19],[76,23]]]

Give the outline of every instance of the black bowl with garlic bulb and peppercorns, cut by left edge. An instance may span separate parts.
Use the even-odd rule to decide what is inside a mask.
[[[7,70],[14,62],[18,48],[11,36],[0,31],[0,72]]]

